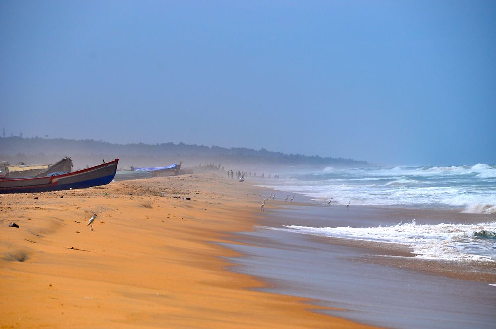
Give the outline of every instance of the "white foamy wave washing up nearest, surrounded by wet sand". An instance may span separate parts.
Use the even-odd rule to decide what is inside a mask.
[[[303,234],[347,238],[410,246],[418,258],[496,261],[496,222],[480,224],[417,225],[411,223],[378,227],[284,226]]]

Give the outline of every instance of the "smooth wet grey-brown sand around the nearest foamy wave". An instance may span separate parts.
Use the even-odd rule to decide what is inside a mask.
[[[298,198],[305,200],[305,198]],[[284,208],[280,208],[283,206]],[[282,225],[369,227],[415,220],[476,223],[494,215],[444,210],[315,206],[276,201],[262,227],[237,234],[228,245],[245,256],[230,258],[234,271],[272,285],[262,291],[319,300],[322,311],[392,328],[494,328],[496,265],[419,260],[404,245],[315,237],[266,229]],[[243,244],[239,244],[242,242]]]

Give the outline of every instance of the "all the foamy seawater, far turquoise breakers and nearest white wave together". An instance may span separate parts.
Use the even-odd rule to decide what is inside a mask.
[[[268,229],[365,241],[399,243],[418,258],[496,262],[496,165],[325,168],[266,179],[263,186],[302,194],[329,207],[370,206],[495,214],[487,222],[420,224],[412,218],[388,226],[283,225]],[[291,195],[290,195],[291,197]],[[285,198],[280,195],[279,198]],[[328,201],[332,201],[327,205]]]

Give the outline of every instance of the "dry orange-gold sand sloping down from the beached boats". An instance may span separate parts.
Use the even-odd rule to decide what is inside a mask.
[[[1,328],[361,327],[227,270],[258,191],[201,174],[0,195]]]

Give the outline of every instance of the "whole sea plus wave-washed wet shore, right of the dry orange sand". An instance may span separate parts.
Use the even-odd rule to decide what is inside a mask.
[[[494,328],[495,165],[275,174],[254,181],[274,199],[248,196],[261,224],[226,244],[233,271],[360,323]]]

